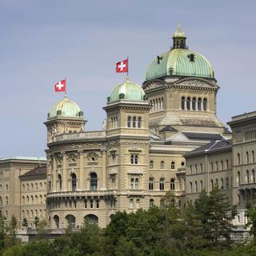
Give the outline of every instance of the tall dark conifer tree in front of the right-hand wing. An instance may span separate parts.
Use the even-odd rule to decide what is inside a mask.
[[[231,221],[236,214],[236,208],[231,206],[218,187],[210,194],[203,190],[195,201],[195,210],[200,222],[200,234],[209,246],[230,245],[230,232],[234,229]]]

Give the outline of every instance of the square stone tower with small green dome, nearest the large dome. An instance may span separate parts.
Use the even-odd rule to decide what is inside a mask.
[[[106,172],[109,187],[118,190],[116,210],[148,207],[149,111],[142,87],[130,78],[115,86],[106,110]]]

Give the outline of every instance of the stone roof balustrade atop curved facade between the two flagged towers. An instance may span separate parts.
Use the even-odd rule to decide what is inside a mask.
[[[70,140],[80,140],[80,139],[104,139],[106,138],[105,130],[96,130],[89,132],[81,132],[81,133],[70,133],[70,134],[58,134],[54,136],[52,142],[62,142],[62,141],[70,141]]]

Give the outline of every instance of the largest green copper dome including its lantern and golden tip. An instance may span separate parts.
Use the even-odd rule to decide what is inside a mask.
[[[146,80],[166,76],[214,78],[214,69],[210,62],[186,47],[186,35],[181,27],[174,32],[172,50],[159,54],[146,70]]]

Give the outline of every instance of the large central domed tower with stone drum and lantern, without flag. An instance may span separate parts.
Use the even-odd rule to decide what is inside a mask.
[[[166,126],[177,132],[226,132],[217,118],[214,69],[202,54],[188,49],[180,26],[172,48],[148,66],[142,88],[150,100],[149,124],[155,134]]]

